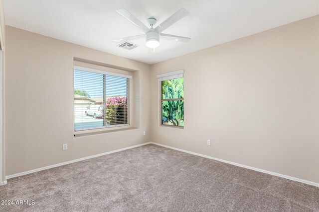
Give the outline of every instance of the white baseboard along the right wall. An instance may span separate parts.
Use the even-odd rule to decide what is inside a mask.
[[[274,176],[277,176],[277,177],[282,177],[282,178],[286,178],[286,179],[289,179],[289,180],[293,180],[293,181],[297,181],[297,182],[301,182],[301,183],[305,183],[305,184],[308,184],[308,185],[319,187],[319,183],[311,182],[311,181],[308,181],[308,180],[303,180],[303,179],[299,179],[299,178],[296,178],[296,177],[291,177],[291,176],[288,176],[288,175],[279,174],[279,173],[272,172],[272,171],[267,171],[267,170],[264,170],[264,169],[259,169],[259,168],[255,168],[255,167],[251,167],[251,166],[246,166],[246,165],[243,165],[243,164],[240,164],[240,163],[235,163],[235,162],[231,162],[231,161],[228,161],[228,160],[223,160],[223,159],[207,156],[207,155],[204,155],[204,154],[199,154],[199,153],[196,153],[196,152],[192,152],[192,151],[187,151],[187,150],[171,147],[171,146],[163,145],[163,144],[160,144],[160,143],[155,143],[155,142],[150,142],[150,143],[155,144],[155,145],[159,145],[159,146],[163,146],[163,147],[166,147],[166,148],[174,149],[174,150],[177,150],[177,151],[182,151],[182,152],[185,152],[185,153],[189,153],[189,154],[193,154],[193,155],[197,155],[197,156],[201,156],[201,157],[206,157],[206,158],[213,159],[213,160],[218,160],[220,162],[229,163],[229,164],[232,164],[232,165],[235,165],[235,166],[239,166],[239,167],[251,169],[251,170],[254,170],[254,171],[263,172],[263,173],[271,174],[271,175],[274,175]]]

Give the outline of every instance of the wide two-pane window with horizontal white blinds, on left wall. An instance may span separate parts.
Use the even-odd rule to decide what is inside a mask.
[[[75,67],[74,130],[129,125],[130,77]]]

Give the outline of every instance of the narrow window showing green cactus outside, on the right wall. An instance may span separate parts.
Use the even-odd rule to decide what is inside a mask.
[[[161,90],[161,125],[184,127],[183,71],[159,75]]]

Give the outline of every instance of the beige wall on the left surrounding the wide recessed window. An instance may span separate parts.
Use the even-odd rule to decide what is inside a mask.
[[[151,140],[150,65],[8,26],[6,38],[6,175]],[[137,70],[139,129],[73,138],[73,57]]]

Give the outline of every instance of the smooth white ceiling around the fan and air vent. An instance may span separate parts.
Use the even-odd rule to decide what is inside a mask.
[[[143,34],[115,10],[124,7],[147,24],[160,24],[184,7],[189,14],[163,33],[191,37],[188,43],[160,40],[149,53],[145,40],[128,51],[112,39]],[[317,15],[319,0],[4,0],[7,25],[103,52],[154,64]]]

